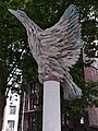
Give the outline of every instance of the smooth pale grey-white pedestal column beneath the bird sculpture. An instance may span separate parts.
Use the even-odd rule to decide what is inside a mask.
[[[44,82],[42,131],[61,131],[60,82]]]

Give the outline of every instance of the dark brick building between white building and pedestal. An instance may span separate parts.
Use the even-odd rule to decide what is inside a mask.
[[[32,82],[28,92],[22,95],[19,131],[40,131],[41,129],[41,85]]]

